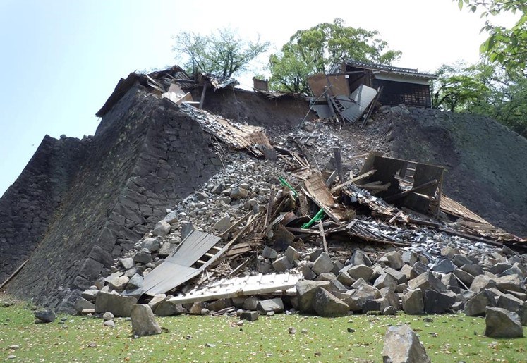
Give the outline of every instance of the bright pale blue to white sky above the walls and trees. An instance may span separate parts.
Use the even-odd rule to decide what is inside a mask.
[[[476,61],[484,39],[483,20],[450,0],[0,0],[0,195],[44,135],[93,135],[119,78],[178,63],[177,32],[230,26],[279,49],[296,30],[337,17],[378,30],[403,52],[398,66],[423,71]]]

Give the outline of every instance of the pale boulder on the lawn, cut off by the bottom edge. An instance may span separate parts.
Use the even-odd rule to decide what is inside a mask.
[[[384,363],[430,363],[425,347],[410,326],[390,326],[382,348]]]

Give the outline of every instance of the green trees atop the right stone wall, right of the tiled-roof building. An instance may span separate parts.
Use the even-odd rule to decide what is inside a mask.
[[[441,66],[432,82],[432,107],[495,118],[527,137],[527,80],[483,59]]]

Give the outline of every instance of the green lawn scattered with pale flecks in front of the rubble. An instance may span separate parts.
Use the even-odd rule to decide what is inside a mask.
[[[426,317],[432,322],[423,321]],[[131,322],[59,316],[34,324],[25,304],[0,307],[0,359],[12,362],[382,362],[387,327],[409,324],[432,362],[527,362],[527,338],[481,336],[485,319],[464,315],[370,316],[335,319],[279,314],[238,326],[236,317],[158,318],[164,331],[133,339]],[[63,325],[61,319],[66,319]],[[296,328],[290,334],[288,328]],[[349,332],[348,328],[355,329]],[[527,331],[524,328],[524,334]],[[9,349],[11,345],[19,348]]]

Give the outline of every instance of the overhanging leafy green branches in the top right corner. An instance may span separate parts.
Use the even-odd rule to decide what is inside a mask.
[[[456,1],[456,0],[453,0]],[[492,62],[501,63],[509,73],[527,75],[527,3],[525,0],[457,0],[459,8],[467,7],[475,12],[483,8],[487,18],[485,30],[489,37],[480,46],[480,52],[487,54]],[[510,11],[519,13],[519,19],[511,28],[492,25],[490,18]]]

